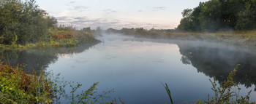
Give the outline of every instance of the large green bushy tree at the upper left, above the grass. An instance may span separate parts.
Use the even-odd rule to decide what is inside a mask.
[[[0,44],[27,44],[49,37],[57,20],[39,9],[34,0],[0,1]]]

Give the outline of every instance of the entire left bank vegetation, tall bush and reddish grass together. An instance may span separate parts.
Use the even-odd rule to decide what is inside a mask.
[[[34,0],[0,1],[0,49],[76,46],[97,41],[90,28],[57,26],[57,20]]]

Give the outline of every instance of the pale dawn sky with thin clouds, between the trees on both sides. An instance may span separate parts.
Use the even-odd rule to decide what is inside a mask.
[[[184,9],[208,0],[37,0],[61,25],[76,28],[176,28]]]

